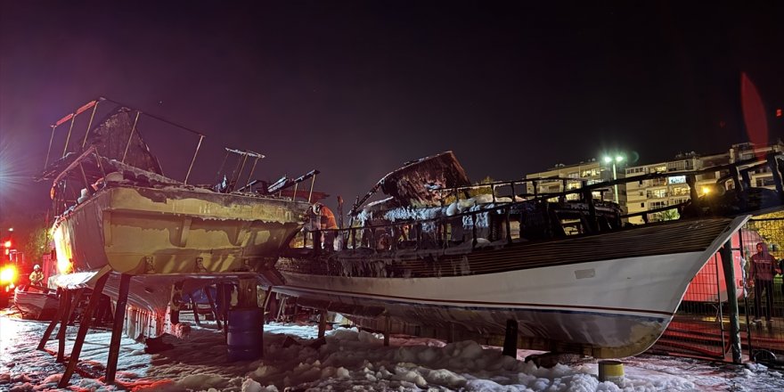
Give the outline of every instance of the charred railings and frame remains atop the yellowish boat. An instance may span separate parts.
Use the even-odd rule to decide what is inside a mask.
[[[127,111],[128,116],[127,128],[124,125],[117,127],[118,129],[124,129],[125,132],[121,137],[117,136],[112,139],[114,141],[113,145],[117,146],[118,150],[113,151],[105,148],[106,151],[104,151],[102,147],[96,147],[95,144],[91,144],[91,132],[102,127],[106,121],[118,113],[118,110]],[[73,110],[51,125],[51,136],[44,167],[45,172],[41,179],[53,180],[53,209],[56,216],[67,212],[69,208],[74,208],[82,200],[92,197],[95,192],[98,192],[101,187],[106,185],[106,181],[103,180],[105,180],[108,173],[117,171],[118,167],[119,170],[125,167],[133,167],[133,165],[129,165],[133,161],[133,149],[138,149],[139,143],[141,143],[143,148],[147,147],[141,136],[142,127],[151,127],[152,130],[156,131],[148,135],[185,131],[194,136],[195,150],[192,152],[192,156],[190,156],[184,179],[180,180],[179,178],[183,177],[179,176],[177,176],[178,178],[163,176],[159,175],[159,173],[144,174],[144,176],[153,178],[156,184],[189,185],[189,183],[192,183],[194,163],[199,156],[202,142],[206,135],[190,127],[176,124],[166,118],[161,118],[143,110],[132,109],[131,106],[125,103],[106,97],[99,97]],[[62,132],[63,128],[67,128],[67,132]],[[112,153],[108,155],[107,151],[112,151]],[[151,154],[151,151],[147,149],[147,153]],[[226,156],[221,167],[217,170],[213,184],[189,186],[209,188],[212,191],[221,193],[261,195],[292,201],[299,199],[306,200],[308,203],[314,199],[313,189],[315,176],[319,174],[318,170],[311,170],[306,175],[298,178],[284,177],[282,181],[267,186],[268,184],[253,178],[258,161],[265,158],[263,154],[231,148],[226,148],[225,154]],[[70,156],[66,160],[68,155]],[[158,160],[158,157],[152,157],[153,160]],[[236,160],[235,165],[228,164],[230,163],[227,160],[229,157],[233,157],[232,159]],[[60,159],[62,160],[58,161]],[[185,166],[183,165],[186,162],[180,161],[179,163],[182,165],[177,167],[184,169]],[[225,167],[227,168],[224,174]],[[145,172],[149,171],[144,168],[141,169]],[[220,181],[218,177],[221,177]],[[309,192],[298,191],[298,185],[306,180],[310,180]],[[290,187],[294,188],[294,192],[288,189]]]

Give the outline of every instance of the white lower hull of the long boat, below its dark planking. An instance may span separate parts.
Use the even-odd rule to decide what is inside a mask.
[[[726,230],[696,251],[441,277],[327,276],[282,268],[284,283],[274,290],[304,306],[479,333],[502,334],[507,320],[515,320],[520,335],[543,339],[553,350],[577,345],[595,357],[635,355],[665,331],[690,280],[745,220],[727,220]]]

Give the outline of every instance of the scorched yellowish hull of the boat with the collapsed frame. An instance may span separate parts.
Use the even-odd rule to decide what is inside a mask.
[[[67,273],[56,284],[92,288],[111,274],[104,293],[117,298],[119,274],[130,274],[131,306],[164,314],[176,282],[187,291],[263,281],[308,206],[182,187],[106,188],[55,223],[58,268]]]

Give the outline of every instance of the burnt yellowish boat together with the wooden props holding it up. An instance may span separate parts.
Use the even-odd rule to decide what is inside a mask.
[[[184,170],[183,181],[164,174],[143,130],[191,136],[186,139],[195,147],[190,159],[184,165],[171,163]],[[39,347],[58,324],[64,331],[80,298],[90,296],[61,387],[75,369],[101,295],[116,303],[108,383],[114,380],[120,333],[151,338],[176,331],[182,327],[178,309],[196,291],[205,291],[224,329],[237,315],[247,329],[258,328],[250,335],[260,336],[258,284],[269,285],[265,277],[273,274],[280,250],[302,227],[317,172],[266,184],[254,177],[262,154],[226,148],[214,182],[193,184],[205,137],[107,98],[88,102],[53,124],[49,156],[56,159],[47,157],[41,178],[52,184],[60,272],[49,284],[62,294]],[[308,183],[310,192],[296,190]],[[237,292],[236,302],[229,297],[230,287]],[[59,335],[58,358],[63,360],[64,334]],[[235,347],[230,354],[257,356],[260,347]]]

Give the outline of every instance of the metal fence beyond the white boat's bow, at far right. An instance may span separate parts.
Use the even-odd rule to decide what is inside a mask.
[[[784,214],[751,219],[731,241],[743,353],[755,361],[784,363]],[[651,350],[731,359],[728,283],[716,254],[694,277],[673,322]]]

